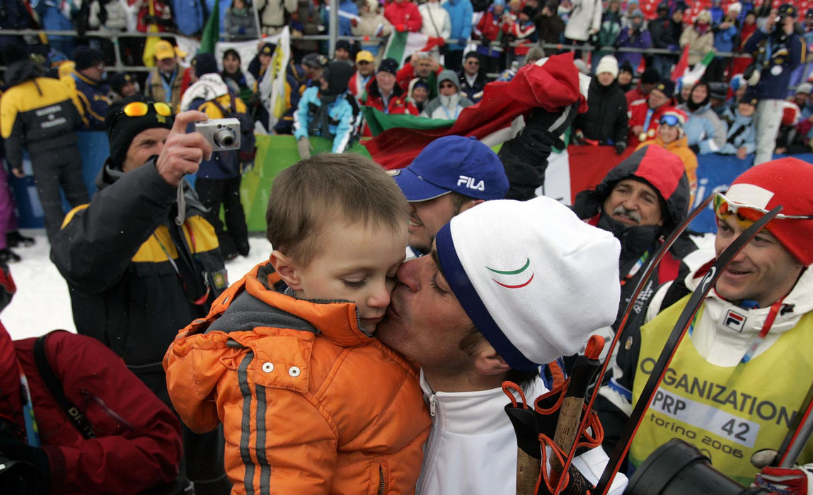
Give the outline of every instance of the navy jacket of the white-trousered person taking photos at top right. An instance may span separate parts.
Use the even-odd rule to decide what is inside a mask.
[[[796,33],[791,33],[784,39],[776,39],[757,29],[748,38],[742,49],[754,55],[754,58],[763,57],[763,69],[757,85],[757,94],[760,100],[784,100],[788,95],[790,76],[793,69],[798,67],[806,57],[804,39]]]

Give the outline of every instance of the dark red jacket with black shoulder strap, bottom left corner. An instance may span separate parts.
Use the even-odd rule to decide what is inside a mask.
[[[12,342],[0,324],[0,419],[24,440],[21,367],[50,463],[50,493],[140,493],[176,477],[180,423],[118,356],[73,333],[54,332],[46,340],[46,357],[67,400],[96,433],[85,440],[42,380],[35,341]]]

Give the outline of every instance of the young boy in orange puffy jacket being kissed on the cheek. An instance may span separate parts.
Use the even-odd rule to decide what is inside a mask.
[[[232,493],[411,493],[430,419],[415,368],[374,332],[409,206],[381,167],[318,154],[274,180],[270,260],[178,334],[181,419],[224,423]]]

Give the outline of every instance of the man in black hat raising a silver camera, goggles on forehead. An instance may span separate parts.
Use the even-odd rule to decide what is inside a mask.
[[[167,103],[140,95],[111,105],[99,191],[67,215],[50,253],[70,289],[77,332],[119,354],[167,405],[164,351],[228,286],[215,230],[183,179],[211,156],[201,134],[185,133],[206,119],[198,111],[173,119]],[[183,433],[196,493],[228,493],[220,433]]]

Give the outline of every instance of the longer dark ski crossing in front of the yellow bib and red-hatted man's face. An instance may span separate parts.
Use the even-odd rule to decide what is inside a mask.
[[[644,413],[649,408],[650,402],[652,402],[654,397],[654,393],[658,389],[661,380],[663,380],[663,376],[666,374],[669,363],[672,362],[672,358],[677,351],[678,345],[680,345],[680,341],[683,339],[686,330],[692,323],[694,315],[700,309],[706,295],[711,292],[711,289],[714,288],[717,279],[719,279],[723,274],[725,267],[728,267],[728,263],[731,263],[733,258],[737,256],[737,254],[744,247],[746,247],[751,239],[753,239],[754,236],[756,236],[757,233],[759,233],[759,231],[761,231],[768,222],[778,215],[780,211],[782,211],[782,206],[776,206],[776,208],[767,212],[749,228],[746,228],[745,232],[742,232],[736,239],[734,239],[734,241],[731,242],[731,244],[728,245],[727,248],[725,248],[722,253],[720,253],[720,256],[717,258],[714,265],[711,267],[711,269],[709,269],[709,271],[706,272],[706,275],[703,276],[702,280],[700,280],[698,288],[695,289],[692,296],[689,297],[689,302],[686,303],[685,308],[680,313],[680,317],[675,323],[675,327],[672,328],[672,333],[669,335],[665,345],[663,345],[663,351],[658,358],[658,362],[655,363],[649,379],[646,380],[646,385],[641,391],[641,396],[638,397],[638,401],[633,408],[633,414],[629,416],[627,423],[624,425],[624,430],[621,432],[619,441],[615,445],[615,449],[613,449],[610,460],[607,462],[601,478],[598,480],[595,493],[606,495],[606,493],[609,491],[610,484],[613,478],[615,478],[615,475],[618,473],[621,467],[621,462],[624,460],[624,456],[627,455],[633,437],[635,436],[638,427],[641,425],[641,419],[643,419]]]

